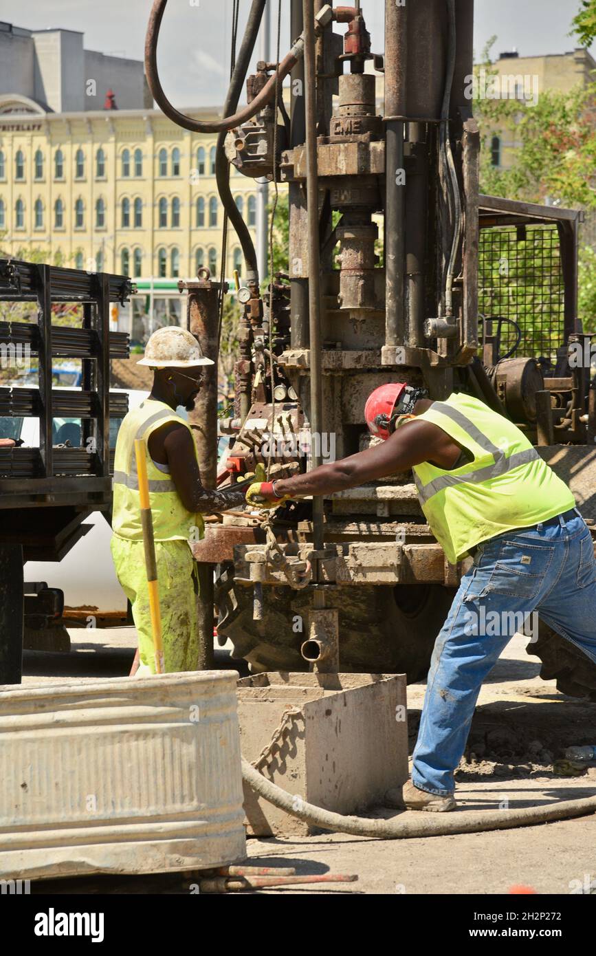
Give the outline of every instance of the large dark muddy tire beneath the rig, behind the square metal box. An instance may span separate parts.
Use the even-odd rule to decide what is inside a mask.
[[[218,634],[234,645],[253,673],[308,670],[300,647],[308,637],[312,590],[264,588],[263,619],[253,620],[252,588],[218,578]],[[325,589],[327,606],[339,611],[340,670],[403,674],[423,679],[455,590],[438,584],[351,586]]]

